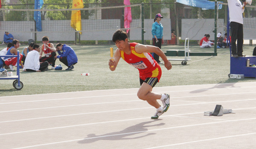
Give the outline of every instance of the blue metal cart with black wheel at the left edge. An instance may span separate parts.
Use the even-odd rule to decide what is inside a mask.
[[[15,89],[22,89],[23,83],[20,81],[20,53],[17,51],[17,55],[0,55],[0,57],[17,57],[17,75],[7,76],[7,77],[0,77],[0,80],[14,80],[12,85]]]

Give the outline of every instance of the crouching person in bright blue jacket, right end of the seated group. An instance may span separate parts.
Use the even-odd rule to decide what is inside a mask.
[[[62,45],[61,43],[57,44],[56,51],[59,55],[54,58],[59,58],[62,63],[68,66],[66,70],[74,69],[73,65],[78,62],[75,51],[70,46],[67,46],[66,44]]]

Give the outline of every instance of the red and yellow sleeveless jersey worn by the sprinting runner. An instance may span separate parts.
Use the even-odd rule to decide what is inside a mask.
[[[159,81],[162,74],[161,67],[150,53],[137,53],[135,51],[136,45],[137,43],[130,43],[131,54],[125,54],[125,52],[120,50],[122,59],[139,70],[142,80],[148,77],[157,77]]]

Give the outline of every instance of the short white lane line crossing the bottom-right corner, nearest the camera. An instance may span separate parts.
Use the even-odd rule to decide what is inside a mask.
[[[203,141],[225,139],[225,138],[233,138],[233,137],[241,137],[241,136],[245,136],[245,135],[255,135],[255,134],[256,134],[256,132],[247,133],[247,134],[240,134],[240,135],[230,135],[230,136],[219,137],[219,138],[211,138],[211,139],[205,139],[205,140],[196,140],[196,141],[190,141],[190,142],[169,144],[169,145],[165,145],[165,146],[156,146],[156,147],[151,147],[151,148],[147,148],[147,149],[156,149],[156,148],[162,148],[162,147],[167,147],[167,146],[177,146],[177,145],[183,145],[183,144],[188,144],[188,143],[203,142]]]

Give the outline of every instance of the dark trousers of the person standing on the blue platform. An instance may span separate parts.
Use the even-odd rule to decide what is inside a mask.
[[[244,44],[243,24],[231,22],[231,51],[232,54],[242,54]],[[236,46],[237,40],[237,46]]]

